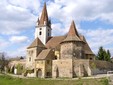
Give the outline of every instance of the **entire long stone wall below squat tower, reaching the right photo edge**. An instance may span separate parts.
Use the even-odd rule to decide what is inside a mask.
[[[104,74],[113,70],[113,63],[99,60],[65,59],[53,60],[52,77],[83,77]]]

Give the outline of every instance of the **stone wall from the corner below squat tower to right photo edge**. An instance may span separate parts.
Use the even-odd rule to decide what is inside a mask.
[[[113,70],[113,63],[101,60],[77,59],[73,60],[73,76],[91,76],[105,74]]]

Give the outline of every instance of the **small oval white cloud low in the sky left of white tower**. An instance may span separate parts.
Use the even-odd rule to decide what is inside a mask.
[[[28,37],[26,37],[26,36],[12,36],[10,38],[10,41],[12,43],[23,43],[23,42],[27,42],[29,40],[28,40]]]

